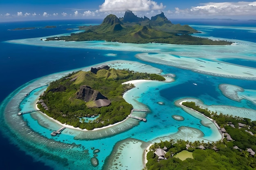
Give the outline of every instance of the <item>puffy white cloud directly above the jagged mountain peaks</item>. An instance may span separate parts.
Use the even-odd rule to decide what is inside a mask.
[[[99,11],[150,11],[161,10],[165,7],[162,3],[157,4],[153,0],[105,0],[99,6]]]

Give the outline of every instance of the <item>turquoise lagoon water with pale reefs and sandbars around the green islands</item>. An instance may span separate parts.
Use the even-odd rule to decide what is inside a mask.
[[[70,26],[66,25],[67,28]],[[63,30],[60,27],[57,25],[56,29]],[[83,54],[84,67],[38,77],[15,91],[13,89],[13,93],[1,103],[2,130],[8,132],[13,144],[32,155],[35,161],[43,162],[54,170],[141,170],[145,163],[145,149],[154,142],[170,139],[211,142],[222,139],[218,127],[211,120],[182,108],[179,103],[193,101],[218,114],[256,120],[256,42],[237,40],[234,35],[216,36],[218,32],[226,30],[237,34],[242,30],[245,35],[255,36],[256,28],[193,27],[202,32],[195,36],[234,43],[194,46],[104,41],[46,42],[43,40],[49,36],[40,37],[39,30],[22,30],[38,33],[34,38],[13,38],[4,44],[23,44],[28,49],[36,46],[49,51],[48,55],[56,49],[74,55],[79,51]],[[11,35],[11,31],[8,33]],[[25,56],[25,52],[20,56]],[[59,60],[58,57],[74,60],[65,55],[52,57],[56,60]],[[88,60],[93,60],[94,64],[88,64]],[[45,84],[72,71],[89,71],[91,67],[103,64],[108,64],[110,68],[171,75],[168,82],[137,81],[134,83],[136,88],[124,94],[124,99],[133,108],[148,110],[132,113],[146,118],[146,122],[127,118],[113,126],[90,131],[66,126],[61,134],[53,136],[53,131],[65,125],[39,111],[17,115],[19,112],[36,110],[38,97],[47,88]],[[42,69],[40,71],[43,72]],[[25,96],[28,92],[29,95]],[[97,150],[97,156],[94,150]],[[97,166],[93,164],[94,157],[98,160]]]

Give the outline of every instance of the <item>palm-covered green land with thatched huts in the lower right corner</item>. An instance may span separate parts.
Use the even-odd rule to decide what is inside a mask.
[[[150,146],[146,170],[255,170],[256,121],[248,118],[217,115],[200,108],[195,102],[183,102],[207,117],[214,119],[224,134],[216,143],[204,141],[161,141]],[[186,151],[185,151],[186,150]],[[191,152],[183,161],[177,153]]]

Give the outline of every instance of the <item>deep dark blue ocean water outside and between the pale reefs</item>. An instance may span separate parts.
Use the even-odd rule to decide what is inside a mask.
[[[228,38],[244,40],[249,42],[256,42],[256,33],[244,29],[233,29],[232,27],[256,27],[256,20],[171,20],[174,24],[189,24],[195,25],[215,25],[215,26],[230,26],[229,29],[211,29],[207,32],[208,35],[213,37]],[[82,68],[93,64],[109,61],[109,60],[132,60],[139,61],[135,57],[137,52],[124,52],[115,51],[118,58],[104,57],[101,50],[92,49],[71,49],[71,48],[56,48],[56,47],[44,47],[44,46],[30,46],[23,44],[10,44],[4,41],[13,39],[35,38],[43,36],[51,36],[62,33],[72,33],[73,31],[67,30],[69,28],[76,28],[76,26],[84,24],[100,24],[102,20],[52,20],[52,21],[29,21],[29,22],[0,22],[0,84],[1,95],[0,102],[2,102],[10,93],[23,84],[52,73],[61,71],[72,70],[75,68]],[[56,25],[53,29],[44,29],[47,25]],[[32,30],[18,30],[11,31],[10,29],[22,28],[22,27],[37,27]],[[102,54],[101,54],[102,53]],[[104,51],[106,53],[106,51]],[[114,53],[108,51],[107,53]],[[256,68],[256,62],[247,60],[225,60],[233,64],[241,64],[244,66]],[[180,73],[180,75],[186,73],[193,75],[191,71],[183,71],[179,68],[173,68],[168,66],[159,66],[158,64],[150,64],[157,68],[161,68],[166,73]],[[205,75],[198,75],[196,80],[200,85],[200,77]],[[177,76],[178,77],[178,76]],[[217,79],[216,77],[209,76],[211,79]],[[195,80],[193,80],[195,81]],[[218,95],[214,93],[216,87],[210,82],[201,82],[204,84],[204,91],[196,88],[186,88],[188,84],[193,81],[184,82],[180,86],[172,86],[164,89],[160,92],[163,97],[168,99],[178,99],[179,97],[195,97],[200,95],[210,95],[213,98],[218,99]],[[246,89],[256,90],[256,83],[254,81],[237,80],[237,79],[225,79],[218,77],[218,82],[229,82],[232,84],[236,82],[236,85],[243,86]],[[183,91],[179,91],[180,89]],[[174,93],[171,93],[172,91]],[[176,92],[176,93],[175,93]],[[172,98],[170,98],[172,96]],[[235,104],[234,104],[235,105]],[[251,106],[254,107],[254,106]],[[2,108],[1,108],[2,109]],[[256,109],[256,108],[254,108]],[[0,131],[0,169],[2,170],[52,170],[51,167],[45,166],[43,163],[34,162],[31,156],[26,155],[24,151],[19,150],[19,146],[14,146],[9,141],[8,136],[4,132]]]

